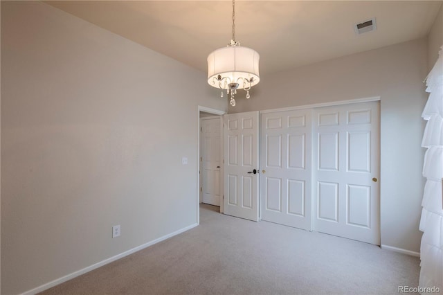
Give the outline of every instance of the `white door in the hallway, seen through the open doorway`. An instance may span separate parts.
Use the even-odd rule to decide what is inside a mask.
[[[202,202],[220,206],[221,117],[201,119]]]

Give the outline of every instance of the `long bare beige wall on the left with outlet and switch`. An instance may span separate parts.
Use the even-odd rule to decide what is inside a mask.
[[[1,1],[1,60],[1,294],[196,224],[204,73],[40,2]]]

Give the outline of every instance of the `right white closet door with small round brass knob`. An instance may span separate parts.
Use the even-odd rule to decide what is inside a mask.
[[[379,102],[314,109],[314,230],[380,244]]]

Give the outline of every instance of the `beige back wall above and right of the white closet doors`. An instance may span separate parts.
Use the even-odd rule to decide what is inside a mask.
[[[426,38],[262,76],[230,112],[381,97],[381,244],[419,252]],[[239,96],[240,97],[240,96]]]

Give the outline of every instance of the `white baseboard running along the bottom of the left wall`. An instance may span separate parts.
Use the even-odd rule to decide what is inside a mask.
[[[89,267],[85,267],[84,269],[80,269],[78,271],[74,271],[72,274],[68,274],[66,276],[62,276],[61,278],[57,278],[56,280],[53,280],[53,281],[51,281],[49,283],[46,283],[44,285],[41,285],[41,286],[36,287],[34,289],[31,289],[29,291],[26,291],[26,292],[24,292],[22,294],[24,294],[24,295],[33,295],[33,294],[37,294],[39,292],[43,292],[44,290],[47,290],[47,289],[49,289],[51,287],[54,287],[56,285],[60,285],[61,283],[66,282],[67,280],[71,280],[71,279],[73,279],[73,278],[75,278],[77,276],[81,276],[82,274],[86,274],[87,272],[89,272],[89,271],[91,271],[93,269],[97,269],[98,267],[102,267],[103,265],[107,265],[108,263],[114,262],[114,261],[116,261],[116,260],[118,260],[120,258],[128,256],[129,254],[132,254],[132,253],[135,253],[135,252],[140,251],[142,249],[145,249],[147,247],[150,247],[153,244],[156,244],[156,243],[161,242],[163,240],[166,240],[168,238],[172,238],[174,235],[178,235],[179,233],[183,233],[185,231],[189,231],[190,229],[195,228],[195,226],[197,226],[197,225],[199,225],[199,224],[197,224],[197,223],[191,224],[190,226],[186,226],[185,228],[179,229],[178,231],[174,231],[173,233],[170,233],[168,235],[163,235],[163,237],[161,237],[161,238],[152,240],[151,242],[147,242],[146,244],[143,244],[141,246],[135,247],[133,249],[130,249],[128,251],[120,253],[120,254],[118,254],[116,256],[113,256],[111,258],[107,258],[105,260],[97,262],[96,264],[90,265]]]

